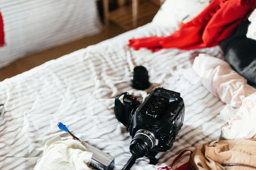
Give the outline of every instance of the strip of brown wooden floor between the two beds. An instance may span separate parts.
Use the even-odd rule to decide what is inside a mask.
[[[0,81],[21,74],[25,71],[30,70],[31,68],[44,64],[49,60],[57,59],[65,54],[69,54],[73,51],[85,48],[89,45],[97,44],[103,40],[112,38],[124,32],[124,29],[116,26],[113,23],[110,23],[109,28],[105,29],[102,33],[98,35],[86,37],[81,40],[77,40],[59,47],[39,52],[37,54],[29,55],[25,58],[15,61],[7,67],[0,69]]]

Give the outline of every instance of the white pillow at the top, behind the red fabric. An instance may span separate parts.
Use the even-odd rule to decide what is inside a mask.
[[[152,23],[178,29],[180,22],[192,20],[208,5],[209,0],[166,0]]]

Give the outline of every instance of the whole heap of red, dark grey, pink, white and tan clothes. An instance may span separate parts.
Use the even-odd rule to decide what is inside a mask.
[[[220,112],[227,122],[221,127],[220,141],[197,147],[191,164],[178,169],[256,169],[255,8],[255,0],[212,0],[170,36],[129,40],[128,46],[135,50],[193,50],[219,45],[224,54],[225,60],[199,54],[192,66],[209,92],[227,104]]]

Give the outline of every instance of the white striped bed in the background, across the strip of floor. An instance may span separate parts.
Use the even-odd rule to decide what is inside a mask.
[[[0,68],[28,54],[52,48],[103,29],[96,0],[1,0],[6,46]]]

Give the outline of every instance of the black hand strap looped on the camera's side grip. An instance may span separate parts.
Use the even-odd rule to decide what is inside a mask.
[[[127,126],[127,122],[126,122],[125,115],[124,115],[125,110],[124,110],[124,106],[123,106],[122,102],[119,100],[119,97],[121,97],[122,95],[127,95],[127,94],[129,94],[129,93],[123,92],[123,93],[117,95],[115,97],[115,107],[114,107],[114,111],[115,111],[117,120],[125,126]]]

